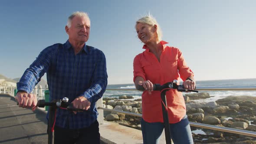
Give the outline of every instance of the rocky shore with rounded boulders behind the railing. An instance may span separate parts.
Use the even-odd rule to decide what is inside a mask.
[[[187,115],[191,122],[256,131],[256,97],[246,95],[228,96],[217,101],[197,102],[197,100],[210,98],[207,93],[199,93],[199,95],[187,94],[184,98],[186,98]],[[103,100],[105,101],[105,108],[142,114],[141,99],[105,97]],[[141,130],[141,118],[108,111],[104,111],[104,117],[105,121],[112,121]],[[237,141],[241,142],[241,144],[255,144],[254,142],[256,141],[255,137],[202,128],[191,127],[191,131],[195,144],[217,142],[236,144]]]

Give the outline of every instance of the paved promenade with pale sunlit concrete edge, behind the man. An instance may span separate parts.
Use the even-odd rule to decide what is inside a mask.
[[[44,108],[20,108],[13,96],[0,94],[0,144],[47,144]],[[101,144],[142,144],[141,131],[113,122],[99,126]],[[162,144],[162,143],[161,143]]]

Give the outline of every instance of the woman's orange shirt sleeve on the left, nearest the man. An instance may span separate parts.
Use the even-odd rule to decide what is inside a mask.
[[[141,66],[139,55],[135,56],[133,61],[133,82],[135,82],[137,76],[142,77],[144,80],[146,79],[144,69]]]

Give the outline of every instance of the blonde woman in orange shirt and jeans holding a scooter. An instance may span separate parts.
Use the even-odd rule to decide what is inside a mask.
[[[186,89],[194,90],[194,73],[187,66],[179,49],[166,46],[161,40],[161,29],[151,16],[144,16],[135,25],[138,38],[144,43],[144,52],[135,56],[134,83],[142,85],[141,130],[144,144],[158,144],[164,129],[161,108],[161,94],[153,91],[153,84],[161,85],[181,78]],[[186,105],[181,92],[166,92],[167,111],[170,122],[171,138],[174,144],[193,144]]]

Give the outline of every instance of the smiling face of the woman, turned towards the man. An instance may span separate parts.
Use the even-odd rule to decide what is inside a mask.
[[[157,41],[156,29],[156,26],[150,26],[146,23],[138,23],[136,25],[138,38],[145,44]]]

